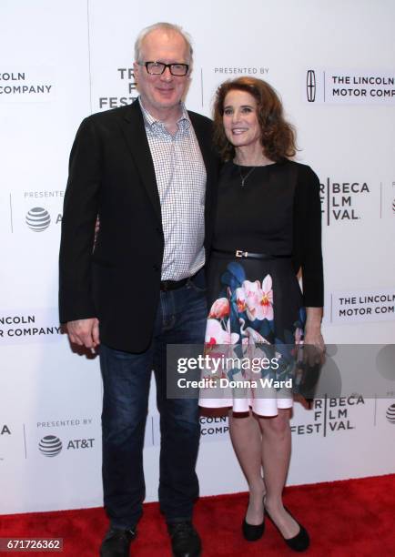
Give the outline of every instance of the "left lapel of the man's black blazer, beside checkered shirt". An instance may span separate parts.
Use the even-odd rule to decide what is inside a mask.
[[[121,118],[120,124],[127,141],[133,160],[136,164],[141,181],[146,187],[148,197],[154,207],[157,218],[161,222],[160,199],[157,191],[157,178],[155,176],[154,162],[151,157],[144,118],[138,101],[128,107]]]

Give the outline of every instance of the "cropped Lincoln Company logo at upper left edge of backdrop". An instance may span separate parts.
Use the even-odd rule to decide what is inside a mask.
[[[54,93],[53,68],[30,67],[23,71],[0,70],[0,103],[49,101],[52,100]]]

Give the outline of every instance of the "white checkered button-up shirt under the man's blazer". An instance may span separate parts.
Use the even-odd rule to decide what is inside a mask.
[[[186,107],[172,136],[138,98],[154,161],[162,210],[165,252],[162,280],[191,277],[205,263],[206,167]]]

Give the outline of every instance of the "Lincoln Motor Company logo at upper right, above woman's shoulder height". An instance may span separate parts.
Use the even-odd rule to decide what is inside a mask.
[[[308,69],[304,98],[308,103],[394,104],[393,71]]]

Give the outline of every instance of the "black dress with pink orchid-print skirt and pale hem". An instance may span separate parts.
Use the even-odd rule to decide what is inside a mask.
[[[299,223],[299,218],[309,222]],[[243,257],[246,252],[262,258]],[[245,386],[249,381],[252,387],[224,387],[216,389],[215,396],[209,389],[201,390],[201,406],[230,406],[234,411],[251,407],[263,416],[292,406],[289,379],[295,387],[295,361],[306,316],[299,267],[312,290],[309,305],[322,306],[319,180],[314,172],[288,160],[255,168],[226,163],[218,184],[208,261],[205,342],[206,354],[213,358],[230,353],[239,358],[216,373],[205,370],[203,377],[228,379],[224,385],[240,380],[238,385]],[[251,360],[259,357],[270,365],[251,371]]]

